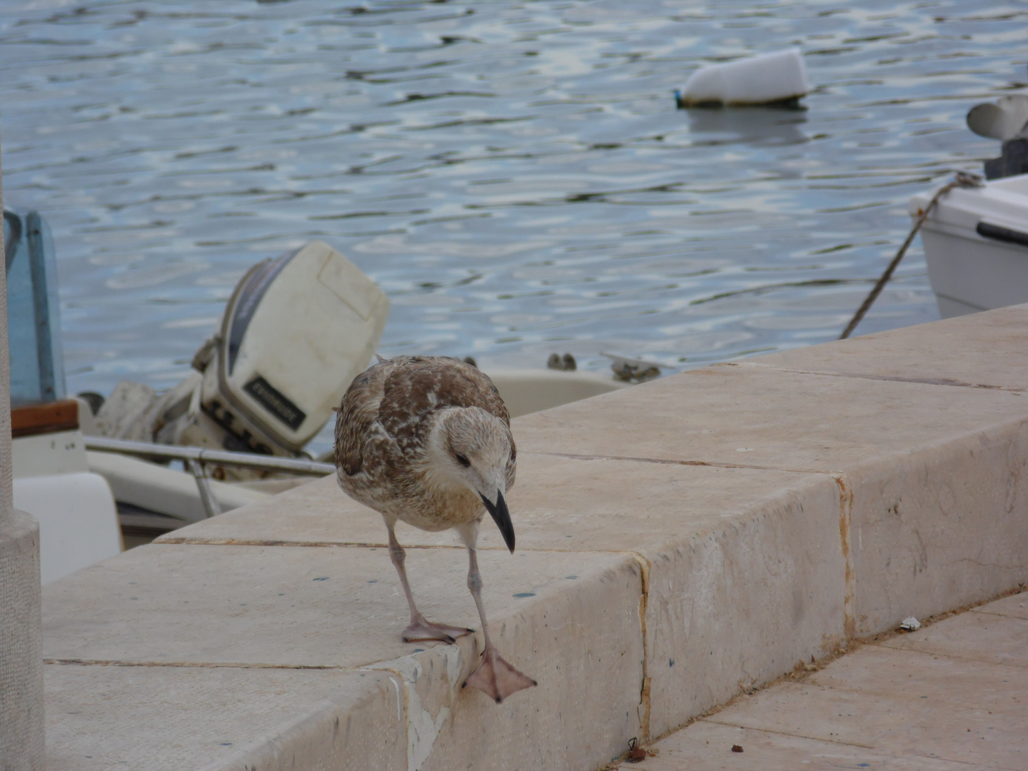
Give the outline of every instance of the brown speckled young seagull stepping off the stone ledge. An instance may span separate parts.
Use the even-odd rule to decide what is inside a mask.
[[[449,357],[399,356],[358,375],[335,425],[336,478],[343,491],[382,515],[389,552],[400,574],[410,625],[404,642],[453,642],[473,629],[429,621],[407,581],[397,520],[423,530],[456,529],[468,547],[468,589],[482,621],[484,648],[465,681],[500,703],[537,685],[500,656],[482,607],[476,542],[485,512],[514,553],[514,525],[504,495],[514,484],[517,450],[510,415],[487,375]]]

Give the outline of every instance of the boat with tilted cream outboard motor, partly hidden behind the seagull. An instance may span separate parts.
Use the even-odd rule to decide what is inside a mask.
[[[318,463],[303,448],[370,363],[388,316],[378,287],[322,242],[254,265],[182,382],[95,395],[83,426],[90,468],[113,487],[122,528],[142,538],[174,526],[167,517],[194,521],[305,481],[297,475],[332,473],[331,453]],[[568,360],[571,371],[488,374],[515,417],[624,386]],[[152,463],[172,461],[195,484]]]

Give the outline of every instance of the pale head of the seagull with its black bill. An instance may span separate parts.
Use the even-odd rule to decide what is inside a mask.
[[[514,484],[515,449],[507,425],[480,407],[440,410],[427,460],[437,479],[462,485],[482,500],[513,552],[514,525],[504,494]]]

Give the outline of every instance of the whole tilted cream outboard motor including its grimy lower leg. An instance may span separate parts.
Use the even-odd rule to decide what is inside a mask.
[[[320,241],[257,263],[236,285],[196,370],[157,394],[120,382],[97,415],[112,438],[296,455],[374,354],[389,298]],[[216,469],[216,478],[255,472]]]

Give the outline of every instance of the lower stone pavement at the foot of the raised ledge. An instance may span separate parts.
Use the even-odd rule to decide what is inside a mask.
[[[648,747],[639,771],[1028,767],[1028,594],[887,635]]]

